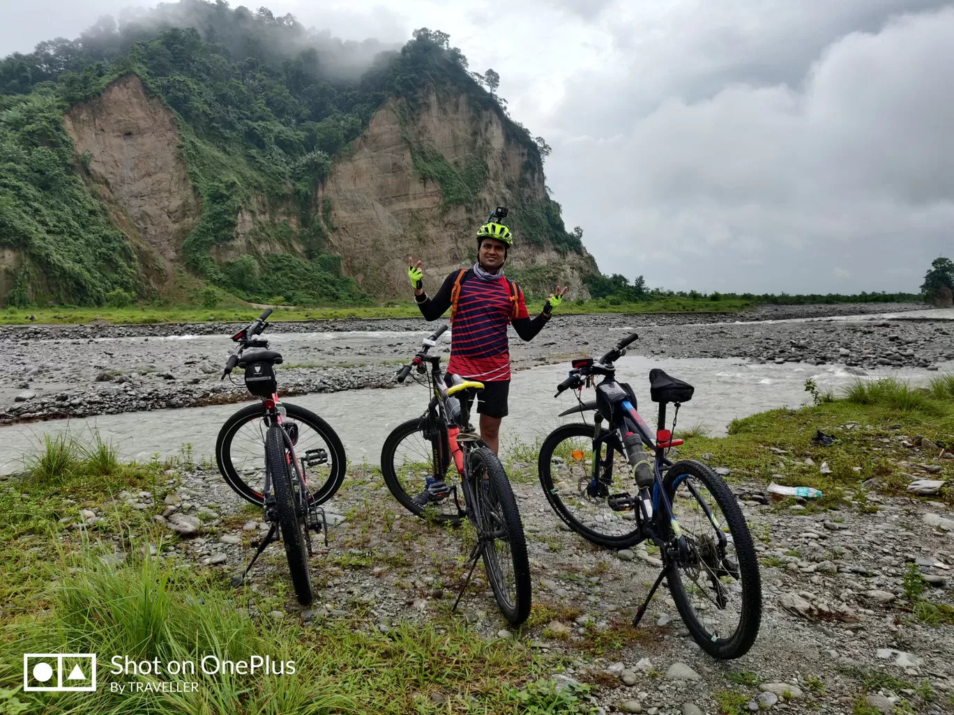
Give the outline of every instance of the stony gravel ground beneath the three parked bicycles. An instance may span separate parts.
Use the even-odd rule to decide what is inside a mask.
[[[325,505],[330,545],[313,541],[316,603],[302,610],[289,600],[250,616],[303,628],[347,619],[385,634],[403,620],[463,618],[480,637],[534,651],[558,681],[594,686],[592,705],[602,713],[954,711],[954,625],[919,621],[905,595],[913,564],[928,603],[954,604],[954,519],[942,503],[847,492],[836,510],[813,512],[762,503],[764,485],[734,483],[757,544],[764,611],[753,649],[720,663],[689,638],[665,588],[633,629],[657,556],[643,545],[598,549],[564,530],[529,469],[509,465],[533,582],[533,621],[521,632],[507,628],[481,570],[462,612],[449,614],[465,574],[461,532],[410,517],[379,475],[360,468]],[[158,558],[223,580],[239,572],[250,541],[265,530],[260,517],[214,471],[190,467],[168,477],[154,492],[123,493],[82,512],[73,507],[62,527],[94,531],[116,509],[138,511],[158,522]],[[172,541],[159,542],[161,534]],[[253,569],[251,588],[287,594],[286,582],[284,555],[273,545]]]

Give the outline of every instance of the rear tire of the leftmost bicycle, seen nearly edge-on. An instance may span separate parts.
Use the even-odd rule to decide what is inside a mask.
[[[265,463],[275,492],[275,513],[295,595],[301,605],[308,605],[311,603],[312,589],[306,550],[306,517],[299,513],[301,509],[298,508],[298,498],[292,484],[292,470],[286,459],[284,431],[277,424],[269,427],[265,435]]]

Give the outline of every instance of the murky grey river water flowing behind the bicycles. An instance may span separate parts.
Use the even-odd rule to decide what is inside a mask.
[[[328,334],[328,338],[346,335]],[[372,339],[373,335],[351,338]],[[282,337],[295,340],[304,336]],[[376,338],[380,340],[382,336],[377,334]],[[855,373],[837,365],[754,364],[737,358],[627,356],[616,365],[617,378],[633,385],[639,399],[639,410],[650,424],[655,422],[656,405],[649,400],[647,376],[653,367],[694,384],[695,397],[683,405],[679,423],[683,427],[702,425],[716,436],[724,435],[733,419],[776,407],[796,407],[809,401],[810,396],[804,390],[808,378],[815,379],[820,389],[836,392],[856,379]],[[514,373],[510,386],[510,414],[501,431],[505,452],[513,440],[533,443],[543,439],[560,422],[578,419],[558,417],[560,412],[575,405],[570,393],[553,398],[556,384],[566,377],[569,368],[569,364],[545,365]],[[861,374],[861,371],[856,372]],[[865,378],[892,375],[910,380],[912,385],[922,384],[935,375],[918,369],[885,369],[864,371],[863,374]],[[591,390],[585,390],[584,399],[592,398],[592,394]],[[404,419],[421,414],[427,399],[425,388],[410,385],[396,389],[302,395],[288,401],[307,407],[330,422],[342,438],[349,460],[356,463],[366,460],[368,464],[377,465],[387,434]],[[194,459],[213,458],[222,422],[240,406],[215,405],[10,425],[0,428],[4,445],[0,474],[21,468],[24,459],[42,444],[44,434],[52,435],[63,430],[80,438],[90,438],[93,431],[98,431],[100,437],[113,442],[124,460],[149,460],[153,455],[176,456],[187,444],[191,445]]]

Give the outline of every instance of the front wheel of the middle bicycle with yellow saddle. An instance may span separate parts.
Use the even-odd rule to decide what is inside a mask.
[[[452,492],[438,501],[425,504],[415,501],[424,493],[428,479],[446,480],[447,464],[439,463],[439,445],[447,449],[447,430],[443,424],[434,424],[427,415],[408,419],[384,440],[381,473],[391,494],[411,514],[456,524],[461,521],[461,514]]]

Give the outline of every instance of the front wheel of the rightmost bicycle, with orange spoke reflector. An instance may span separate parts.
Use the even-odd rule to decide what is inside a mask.
[[[606,430],[600,435],[607,436]],[[607,483],[610,469],[615,484]],[[553,430],[540,447],[537,473],[553,511],[587,541],[621,549],[642,539],[636,512],[613,511],[608,501],[613,492],[625,489],[621,482],[629,477],[629,462],[610,442],[593,439],[591,425],[564,424]]]

